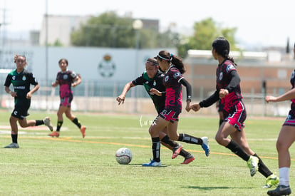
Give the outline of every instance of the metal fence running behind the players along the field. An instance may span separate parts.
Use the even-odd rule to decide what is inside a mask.
[[[0,76],[1,81],[5,81],[6,76]],[[131,88],[127,93],[124,105],[118,105],[115,98],[120,95],[126,83],[130,81],[116,81],[110,83],[108,81],[83,81],[79,86],[73,88],[74,99],[72,109],[86,113],[153,113],[155,108],[152,105],[148,93],[145,88]],[[59,96],[58,87],[52,88],[45,85],[45,81],[39,81],[40,89],[32,98],[30,110],[44,110],[53,112],[58,110]],[[12,90],[12,87],[10,87]],[[196,88],[195,88],[196,89]],[[213,89],[212,89],[213,90]],[[267,89],[271,95],[277,96],[289,89],[272,88]],[[198,102],[207,98],[210,93],[205,93],[202,86],[198,87],[199,96],[192,98],[192,102]],[[0,88],[1,108],[11,111],[14,108],[14,99],[5,91],[4,87]],[[183,93],[185,98],[185,92]],[[255,116],[286,116],[290,108],[290,102],[281,103],[265,103],[265,94],[260,92],[243,93],[244,104],[247,108],[248,115]],[[185,101],[185,100],[183,100]],[[186,113],[183,111],[183,113]],[[217,115],[217,108],[212,105],[209,108],[202,108],[199,112],[204,115]]]

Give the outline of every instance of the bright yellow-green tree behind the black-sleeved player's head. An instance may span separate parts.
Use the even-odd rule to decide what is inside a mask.
[[[196,22],[194,25],[194,34],[187,37],[185,41],[182,41],[182,43],[177,45],[178,54],[185,57],[187,56],[187,51],[189,49],[211,50],[212,41],[219,36],[227,38],[232,49],[235,49],[236,42],[234,34],[236,31],[236,28],[219,28],[212,18]]]

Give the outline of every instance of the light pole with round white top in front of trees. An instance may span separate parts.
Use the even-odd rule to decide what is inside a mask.
[[[137,19],[133,21],[133,29],[135,29],[135,78],[138,76],[138,66],[140,63],[138,62],[138,52],[139,52],[139,43],[140,43],[140,29],[143,28],[143,21]],[[136,93],[138,94],[138,93]],[[135,89],[131,93],[131,96],[134,98],[134,112],[138,111],[138,101],[137,101],[137,95],[135,95]]]

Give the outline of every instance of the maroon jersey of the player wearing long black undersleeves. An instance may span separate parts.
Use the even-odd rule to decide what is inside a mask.
[[[216,88],[219,92],[220,89],[226,88],[229,85],[229,82],[232,80],[232,77],[229,73],[232,71],[237,71],[232,61],[226,60],[221,63],[216,70]],[[227,96],[222,98],[221,103],[224,104],[224,110],[229,112],[232,106],[236,105],[239,100],[242,100],[241,88],[237,85],[234,90],[229,93]]]

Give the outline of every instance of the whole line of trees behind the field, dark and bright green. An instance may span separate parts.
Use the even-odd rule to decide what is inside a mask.
[[[214,38],[224,36],[236,47],[234,39],[237,28],[222,28],[212,18],[196,21],[192,36],[184,36],[168,28],[164,32],[157,29],[133,29],[134,19],[120,17],[113,11],[91,17],[86,24],[71,33],[72,46],[95,46],[108,48],[135,48],[136,31],[139,31],[139,48],[177,48],[183,58],[189,49],[211,50]]]

